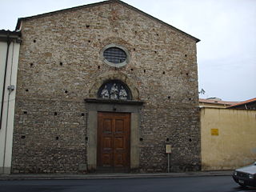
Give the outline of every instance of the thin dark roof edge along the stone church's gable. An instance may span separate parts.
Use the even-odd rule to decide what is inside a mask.
[[[87,4],[87,5],[84,5],[84,6],[75,6],[75,7],[68,8],[68,9],[64,9],[64,10],[56,10],[56,11],[49,12],[49,13],[46,13],[46,14],[38,14],[38,15],[34,15],[34,16],[26,17],[26,18],[18,18],[18,22],[17,22],[17,25],[16,25],[16,29],[15,29],[15,30],[19,30],[19,29],[20,29],[20,26],[21,26],[21,24],[22,24],[22,21],[26,21],[26,20],[30,20],[30,19],[34,19],[34,18],[41,18],[41,17],[45,17],[45,16],[49,16],[49,15],[57,14],[57,13],[61,13],[61,12],[66,12],[66,11],[70,11],[70,10],[80,10],[80,9],[89,8],[89,7],[92,7],[92,6],[101,6],[101,5],[109,4],[109,3],[113,3],[113,2],[118,2],[118,3],[120,3],[122,6],[126,6],[126,8],[128,8],[128,9],[130,9],[130,10],[134,10],[134,11],[138,12],[139,14],[143,14],[143,15],[146,16],[147,18],[151,18],[151,19],[153,19],[153,20],[155,20],[155,21],[157,21],[157,22],[162,23],[162,24],[165,25],[165,26],[170,27],[170,28],[173,29],[173,30],[178,31],[179,33],[185,34],[187,37],[194,39],[195,42],[200,42],[200,39],[195,38],[195,37],[193,37],[193,36],[190,35],[190,34],[186,34],[186,32],[184,32],[184,31],[182,31],[182,30],[178,30],[176,27],[170,26],[168,23],[162,22],[162,21],[159,20],[158,18],[154,18],[154,17],[151,16],[150,14],[146,14],[146,13],[143,12],[142,10],[138,10],[138,9],[135,8],[134,6],[130,6],[129,4],[127,4],[127,3],[125,3],[125,2],[122,2],[122,1],[120,1],[120,0],[109,0],[109,1],[104,1],[104,2],[95,2],[95,3]]]

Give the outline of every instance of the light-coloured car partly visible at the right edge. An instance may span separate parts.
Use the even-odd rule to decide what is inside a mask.
[[[234,170],[232,176],[240,186],[256,186],[256,162]]]

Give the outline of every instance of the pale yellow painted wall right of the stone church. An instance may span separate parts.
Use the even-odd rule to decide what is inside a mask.
[[[256,161],[256,110],[202,108],[201,130],[202,170],[233,170]]]

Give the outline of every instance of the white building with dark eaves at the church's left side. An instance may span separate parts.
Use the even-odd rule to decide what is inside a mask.
[[[20,32],[0,30],[0,174],[10,174]]]

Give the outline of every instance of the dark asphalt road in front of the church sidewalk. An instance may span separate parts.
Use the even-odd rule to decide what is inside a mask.
[[[0,181],[1,192],[244,192],[230,176]]]

